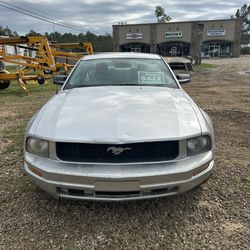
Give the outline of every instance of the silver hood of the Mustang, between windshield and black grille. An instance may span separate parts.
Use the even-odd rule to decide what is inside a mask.
[[[116,144],[201,134],[183,90],[149,86],[61,91],[40,110],[33,131],[52,141]]]

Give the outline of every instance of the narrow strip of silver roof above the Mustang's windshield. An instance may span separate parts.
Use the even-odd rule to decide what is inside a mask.
[[[159,55],[149,53],[134,52],[107,52],[94,55],[87,55],[82,60],[106,59],[106,58],[143,58],[143,59],[161,59]]]

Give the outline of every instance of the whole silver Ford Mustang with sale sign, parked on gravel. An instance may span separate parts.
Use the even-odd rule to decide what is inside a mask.
[[[24,168],[56,198],[132,200],[186,192],[213,161],[213,126],[158,55],[81,59],[30,120]]]

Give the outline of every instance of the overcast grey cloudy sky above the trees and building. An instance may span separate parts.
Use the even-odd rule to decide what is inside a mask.
[[[40,33],[52,32],[53,25],[32,17],[16,13],[4,8],[6,2],[38,12],[43,16],[80,26],[83,32],[96,34],[112,32],[112,25],[124,20],[128,24],[156,22],[154,10],[156,5],[165,8],[172,21],[189,21],[204,19],[230,18],[249,0],[3,0],[0,1],[0,25],[9,26],[19,34],[25,34],[33,29]],[[58,32],[77,31],[55,26]]]

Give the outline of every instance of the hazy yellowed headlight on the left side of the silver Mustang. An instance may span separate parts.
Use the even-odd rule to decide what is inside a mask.
[[[26,141],[26,150],[34,155],[49,157],[49,142],[34,137],[28,137]]]

